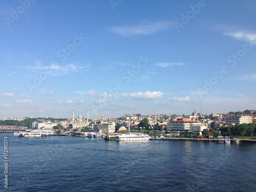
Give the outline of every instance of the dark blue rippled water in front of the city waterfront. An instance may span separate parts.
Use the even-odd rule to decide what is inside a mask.
[[[256,144],[4,136],[0,191],[256,191]]]

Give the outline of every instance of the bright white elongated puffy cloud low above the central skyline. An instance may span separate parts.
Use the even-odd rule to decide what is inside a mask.
[[[130,93],[130,94],[121,94],[123,98],[131,97],[135,99],[155,99],[160,98],[163,96],[163,93],[160,91],[154,91],[154,92],[137,92],[137,93]]]

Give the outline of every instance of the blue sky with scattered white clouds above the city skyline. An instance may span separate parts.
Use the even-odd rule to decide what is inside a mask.
[[[256,109],[255,1],[0,5],[1,119]]]

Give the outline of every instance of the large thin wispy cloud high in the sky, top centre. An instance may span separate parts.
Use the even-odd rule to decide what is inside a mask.
[[[172,25],[173,22],[158,22],[145,25],[117,26],[112,27],[110,30],[116,34],[123,36],[148,35],[156,33],[158,31],[170,29]]]

